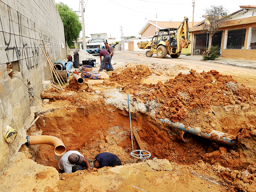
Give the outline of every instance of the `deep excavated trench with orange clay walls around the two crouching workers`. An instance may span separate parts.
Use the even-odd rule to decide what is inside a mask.
[[[103,105],[99,101],[81,108],[54,109],[41,114],[36,127],[37,130],[29,130],[28,134],[55,136],[63,141],[67,151],[77,150],[91,160],[99,153],[111,152],[116,154],[123,164],[136,162],[136,159],[130,156],[132,143],[129,112],[112,105]],[[132,113],[132,127],[136,128],[152,158],[168,159],[178,164],[196,164],[200,160],[214,164],[221,158],[220,148],[237,153],[237,148],[170,128],[141,113]],[[134,136],[133,145],[134,150],[140,149]],[[38,164],[59,170],[60,156],[54,154],[51,145],[40,145],[34,152]],[[237,159],[238,163],[228,163],[232,158],[231,155],[228,160],[220,161],[220,164],[230,168],[245,168]]]

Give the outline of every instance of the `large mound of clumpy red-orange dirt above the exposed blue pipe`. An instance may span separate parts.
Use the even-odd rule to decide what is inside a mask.
[[[237,84],[231,76],[220,75],[213,70],[190,74],[179,74],[164,84],[152,87],[152,92],[143,93],[140,97],[148,100],[156,99],[162,104],[158,114],[177,122],[188,116],[192,109],[200,108],[208,111],[211,105],[235,105],[241,102],[255,101],[255,91]],[[250,97],[251,95],[251,97]]]

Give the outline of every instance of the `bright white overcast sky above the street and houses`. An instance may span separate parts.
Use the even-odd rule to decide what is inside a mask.
[[[80,11],[81,16],[80,0],[55,2],[67,4],[73,11]],[[194,22],[202,21],[205,8],[210,8],[211,5],[222,5],[228,13],[233,13],[240,10],[240,5],[256,5],[256,1],[195,0]],[[140,37],[139,32],[148,20],[182,21],[184,16],[188,17],[188,21],[192,22],[193,19],[192,0],[84,0],[84,7],[85,36],[89,37],[93,33],[107,33],[108,38],[120,40],[121,27],[123,36]],[[80,36],[82,37],[82,33]]]

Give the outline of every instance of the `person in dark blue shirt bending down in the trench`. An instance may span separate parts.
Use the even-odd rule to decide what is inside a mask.
[[[122,165],[118,156],[112,153],[100,153],[93,160],[93,167],[99,169],[102,167],[114,167],[116,165]]]

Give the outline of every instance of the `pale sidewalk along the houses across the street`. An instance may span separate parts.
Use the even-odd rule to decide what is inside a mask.
[[[135,53],[135,54],[144,54],[145,52],[132,52],[132,51],[123,51],[123,52],[130,52],[130,53]],[[170,57],[170,56],[168,56]],[[201,55],[190,55],[186,56],[181,54],[178,59],[188,59],[188,60],[195,60],[195,61],[203,61]],[[207,60],[203,62],[214,62],[214,63],[222,63],[226,65],[233,65],[237,67],[244,67],[244,68],[254,68],[256,69],[256,60],[236,60],[236,59],[227,59],[227,58],[217,58],[215,60]]]

